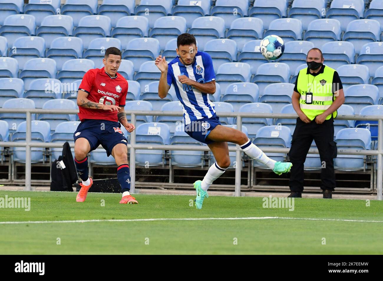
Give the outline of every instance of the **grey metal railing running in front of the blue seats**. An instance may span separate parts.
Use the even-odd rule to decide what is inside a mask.
[[[26,141],[11,142],[0,141],[1,147],[25,147],[25,190],[31,190],[31,148],[61,148],[62,143],[43,143],[31,141],[31,114],[77,114],[79,110],[50,110],[50,109],[5,109],[0,108],[0,113],[25,113],[26,114]],[[169,111],[130,111],[130,122],[136,125],[137,115],[152,115],[152,116],[182,116],[180,112]],[[273,119],[296,119],[295,114],[264,114],[264,113],[220,113],[220,117],[236,117],[237,128],[242,128],[242,118],[273,118]],[[180,118],[182,119],[182,118]],[[338,149],[338,154],[346,155],[375,155],[377,156],[377,199],[383,200],[383,116],[379,115],[338,115],[337,120],[364,120],[378,121],[378,150],[363,150],[363,149]],[[74,147],[74,145],[70,145]],[[101,146],[100,146],[101,147]],[[145,145],[136,143],[136,130],[130,134],[130,174],[131,174],[131,192],[135,192],[135,175],[136,175],[136,149],[159,149],[159,150],[193,150],[193,151],[210,151],[207,146],[200,145]],[[288,153],[290,148],[262,148],[265,153]],[[236,151],[236,161],[240,163],[241,148],[236,145],[235,148],[229,148],[229,151]],[[318,149],[309,149],[310,154],[319,154]],[[235,196],[241,196],[241,169],[242,165],[236,165],[235,171]]]

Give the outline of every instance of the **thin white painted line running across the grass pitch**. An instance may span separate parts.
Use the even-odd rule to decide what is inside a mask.
[[[242,220],[242,219],[301,219],[309,221],[351,221],[360,223],[383,223],[383,221],[364,221],[356,219],[315,219],[315,218],[286,218],[286,217],[247,217],[247,218],[153,218],[153,219],[84,219],[75,221],[0,221],[0,224],[22,223],[97,223],[97,222],[126,222],[126,221],[205,221],[205,220]]]

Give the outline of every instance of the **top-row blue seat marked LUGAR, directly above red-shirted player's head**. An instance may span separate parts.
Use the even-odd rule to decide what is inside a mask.
[[[135,0],[103,0],[98,15],[108,16],[112,27],[116,27],[120,18],[134,14],[135,6]]]

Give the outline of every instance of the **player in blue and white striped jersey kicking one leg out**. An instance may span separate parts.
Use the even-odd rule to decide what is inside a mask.
[[[228,141],[241,146],[250,158],[265,164],[276,174],[289,172],[290,162],[268,158],[244,133],[221,125],[214,104],[209,100],[209,94],[216,91],[213,62],[208,53],[198,51],[195,37],[188,33],[178,36],[176,51],[177,57],[170,63],[161,55],[155,59],[155,65],[161,70],[158,95],[162,99],[166,97],[173,84],[183,107],[185,132],[206,143],[216,159],[204,179],[194,183],[196,208],[202,208],[209,186],[230,166]]]

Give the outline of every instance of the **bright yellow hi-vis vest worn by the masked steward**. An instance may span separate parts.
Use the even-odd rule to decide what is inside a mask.
[[[322,65],[322,67],[324,67]],[[331,67],[324,68],[323,73],[319,73],[317,76],[307,74],[307,69],[304,68],[299,71],[297,89],[301,94],[299,100],[301,110],[310,120],[322,114],[328,109],[333,100],[336,98],[332,93],[332,78],[334,77],[334,69]],[[313,99],[311,104],[306,104],[306,93],[313,93]],[[332,113],[333,117],[337,116],[337,111]],[[326,117],[326,120],[331,118],[331,114]]]

